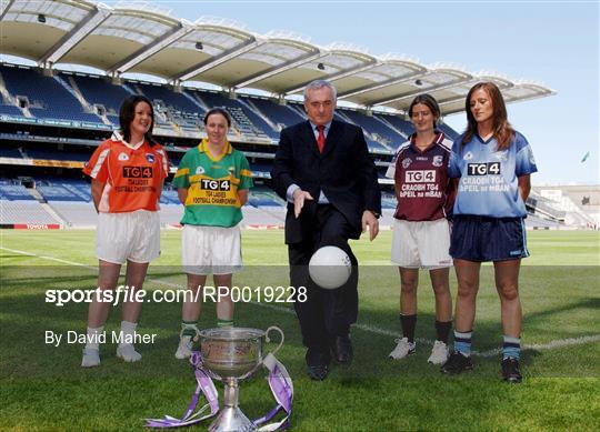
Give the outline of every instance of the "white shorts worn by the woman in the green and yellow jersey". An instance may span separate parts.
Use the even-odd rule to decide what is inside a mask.
[[[231,228],[183,225],[183,271],[190,274],[230,274],[243,267],[240,225]]]

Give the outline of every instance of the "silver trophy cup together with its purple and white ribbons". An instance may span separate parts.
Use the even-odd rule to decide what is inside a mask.
[[[262,359],[262,340],[266,339],[269,342],[268,334],[271,330],[280,333],[281,341],[272,353]],[[198,385],[186,413],[181,419],[170,415],[166,415],[163,419],[149,419],[146,425],[149,428],[186,426],[211,418],[220,411],[209,428],[211,431],[276,431],[287,429],[292,411],[293,384],[286,366],[274,356],[274,353],[282,345],[283,332],[277,326],[271,326],[267,331],[223,328],[200,332],[200,352],[194,351],[190,359],[194,368]],[[260,365],[263,365],[269,371],[269,388],[277,405],[266,415],[250,421],[238,406],[239,381],[251,376]],[[224,403],[221,410],[219,409],[218,392],[211,378],[226,384]],[[200,392],[208,403],[194,412]],[[210,409],[210,412],[204,414],[208,409]],[[268,423],[281,410],[286,412],[286,416],[281,421]]]

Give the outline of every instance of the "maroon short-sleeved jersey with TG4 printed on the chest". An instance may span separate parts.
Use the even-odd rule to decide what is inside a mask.
[[[414,137],[400,145],[386,173],[396,183],[398,207],[393,217],[406,221],[447,218],[454,197],[453,182],[448,177],[452,141],[437,132],[433,142],[420,151]]]

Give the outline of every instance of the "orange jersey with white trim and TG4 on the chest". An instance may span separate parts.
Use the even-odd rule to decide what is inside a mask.
[[[130,145],[113,133],[93,152],[83,173],[107,183],[98,211],[157,211],[162,181],[169,174],[169,162],[161,145],[151,147],[147,141],[139,147]]]

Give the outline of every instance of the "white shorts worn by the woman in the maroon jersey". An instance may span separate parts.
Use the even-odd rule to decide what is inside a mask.
[[[406,269],[434,270],[452,265],[450,223],[393,220],[391,261]]]

